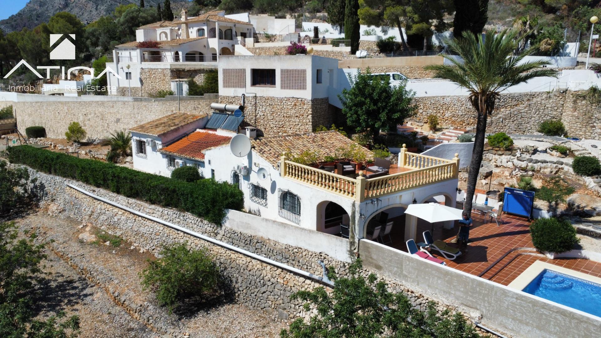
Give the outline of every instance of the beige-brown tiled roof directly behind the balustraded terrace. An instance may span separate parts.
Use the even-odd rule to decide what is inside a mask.
[[[370,150],[337,131],[262,137],[252,141],[255,153],[272,165],[278,164],[282,153],[290,153],[294,157],[310,150],[317,152],[323,159],[324,156],[335,156],[340,152],[340,148],[348,149],[353,144],[364,152],[368,159],[373,158]]]

